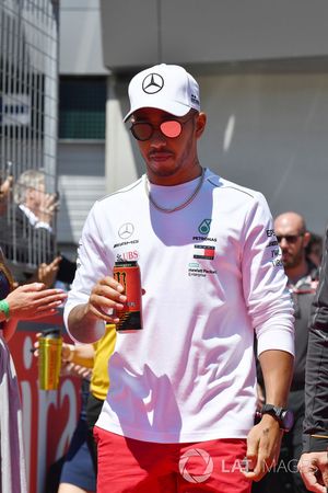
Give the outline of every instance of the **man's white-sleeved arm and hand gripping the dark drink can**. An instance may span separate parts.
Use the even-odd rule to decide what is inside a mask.
[[[110,275],[115,259],[106,248],[108,234],[99,227],[97,203],[93,206],[83,227],[78,249],[77,272],[63,319],[74,341],[92,343],[105,332],[105,323],[117,323],[116,310],[122,310],[126,296],[124,287]]]

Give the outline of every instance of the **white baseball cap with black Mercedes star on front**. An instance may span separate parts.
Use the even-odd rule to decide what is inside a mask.
[[[129,84],[129,98],[130,111],[124,122],[141,107],[175,116],[184,116],[190,108],[200,111],[198,83],[178,65],[155,65],[137,73]]]

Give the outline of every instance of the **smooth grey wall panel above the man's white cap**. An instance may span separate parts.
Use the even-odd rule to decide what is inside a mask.
[[[104,62],[114,71],[323,57],[326,0],[101,0]]]

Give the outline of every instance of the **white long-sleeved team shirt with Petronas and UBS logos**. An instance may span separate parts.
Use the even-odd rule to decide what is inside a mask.
[[[197,181],[151,184],[174,207]],[[145,176],[95,203],[65,309],[85,303],[118,260],[137,260],[143,330],[118,333],[97,426],[145,442],[246,437],[256,408],[258,353],[294,353],[293,309],[265,197],[206,171],[196,198],[159,211]],[[87,331],[87,328],[85,328]]]

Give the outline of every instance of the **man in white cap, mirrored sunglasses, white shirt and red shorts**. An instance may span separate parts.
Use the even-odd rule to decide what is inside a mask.
[[[127,302],[115,262],[138,260],[143,329],[117,333],[97,491],[248,493],[290,426],[293,309],[271,214],[201,167],[206,115],[183,67],[141,71],[129,98],[147,174],[92,208],[65,311],[72,337],[99,339]],[[267,390],[256,426],[255,334]]]

